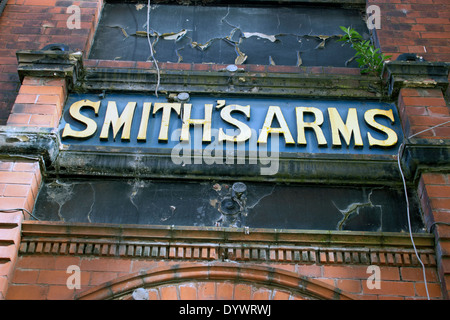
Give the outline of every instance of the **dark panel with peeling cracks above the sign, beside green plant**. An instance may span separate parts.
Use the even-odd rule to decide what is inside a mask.
[[[146,3],[106,3],[92,59],[148,61]],[[340,26],[369,37],[361,12],[312,5],[150,7],[149,36],[159,62],[357,67]]]

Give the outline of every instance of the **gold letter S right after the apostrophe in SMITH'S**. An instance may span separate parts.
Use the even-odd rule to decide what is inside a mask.
[[[247,116],[247,120],[250,119],[250,106],[240,106],[237,104],[228,105],[220,111],[221,118],[231,123],[232,125],[238,127],[239,134],[236,136],[230,136],[223,132],[223,129],[219,129],[219,141],[230,141],[230,142],[245,142],[252,136],[252,131],[248,125],[233,118],[231,112],[240,111]]]

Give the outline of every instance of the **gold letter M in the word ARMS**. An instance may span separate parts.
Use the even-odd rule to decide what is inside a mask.
[[[352,135],[355,139],[355,147],[362,147],[363,141],[361,132],[359,130],[358,114],[355,108],[348,109],[347,120],[344,122],[341,119],[336,108],[328,108],[330,116],[331,134],[333,138],[333,147],[341,146],[340,134],[344,138],[347,146],[350,145]]]

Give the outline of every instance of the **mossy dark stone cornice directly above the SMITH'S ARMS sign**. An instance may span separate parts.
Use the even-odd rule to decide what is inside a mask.
[[[299,71],[303,69],[299,68]],[[305,69],[306,70],[306,69]],[[381,98],[380,81],[362,75],[256,72],[226,70],[165,70],[160,73],[159,92],[189,92],[197,94],[252,94],[310,98]],[[138,68],[86,68],[79,82],[79,91],[129,91],[153,93],[157,72]]]

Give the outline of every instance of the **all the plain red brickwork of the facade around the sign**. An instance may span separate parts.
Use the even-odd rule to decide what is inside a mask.
[[[381,7],[382,29],[377,31],[381,47],[387,54],[397,56],[404,52],[423,55],[429,61],[450,61],[449,52],[449,12],[447,0],[371,0],[370,4]],[[79,4],[82,8],[82,29],[68,30],[66,8]],[[73,50],[88,52],[100,1],[38,1],[9,0],[0,16],[0,123],[17,126],[54,127],[58,123],[61,107],[65,100],[64,82],[56,79],[26,78],[19,86],[15,52],[19,49],[40,49],[45,44],[62,42]],[[423,52],[421,51],[423,50]],[[425,52],[426,50],[426,52]],[[148,63],[87,61],[88,66],[143,66]],[[162,68],[185,70],[216,70],[224,66],[193,66],[190,64],[162,64]],[[253,71],[295,71],[293,67],[246,66]],[[327,68],[311,68],[309,71],[322,72]],[[337,71],[336,71],[337,70]],[[330,72],[354,73],[355,70],[333,69]],[[20,91],[19,91],[20,89]],[[16,94],[19,96],[16,98]],[[15,102],[15,103],[14,103]],[[398,101],[402,123],[406,135],[428,129],[449,119],[448,107],[442,92],[437,89],[402,89]],[[9,115],[10,110],[13,114]],[[419,137],[448,139],[449,127],[443,126],[423,133]],[[31,167],[27,167],[31,166]],[[24,206],[31,211],[40,183],[37,163],[27,161],[3,161],[0,163],[0,204],[1,208]],[[31,178],[34,177],[34,178]],[[34,179],[34,180],[33,180]],[[449,222],[450,201],[448,196],[448,173],[424,173],[421,177],[419,195],[431,228],[434,222]],[[82,270],[84,289],[107,286],[117,277],[127,276],[156,267],[170,267],[179,261],[157,262],[127,258],[92,258],[85,256],[22,255],[17,257],[20,239],[21,214],[0,214],[0,299],[71,299],[74,292],[66,287],[68,265],[78,265]],[[449,227],[433,225],[436,235],[438,268],[427,267],[429,293],[432,298],[442,298],[449,288]],[[161,263],[164,266],[161,266]],[[365,285],[367,266],[334,265],[318,261],[316,264],[268,265],[286,270],[298,276],[306,276],[341,289],[356,298],[365,299],[423,299],[425,298],[422,269],[418,266],[398,264],[382,268],[382,284],[379,291],[369,290]],[[14,274],[13,274],[13,271]],[[168,284],[151,291],[155,297],[165,298],[166,294],[177,297],[195,294],[197,298],[228,297],[239,298],[248,294],[249,287],[231,282],[216,281],[211,284],[202,279],[192,286]],[[106,284],[105,284],[106,283]],[[212,288],[214,287],[214,288]],[[220,288],[220,290],[219,290]],[[223,291],[222,291],[223,289]],[[261,288],[259,288],[261,289]],[[258,290],[259,290],[258,289]],[[286,292],[272,288],[256,291],[258,296],[271,298],[295,298]],[[256,294],[253,292],[253,294]],[[173,297],[173,296],[172,296]],[[193,297],[193,296],[191,296]],[[252,296],[254,297],[254,296]],[[447,296],[448,297],[448,296]]]

